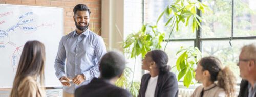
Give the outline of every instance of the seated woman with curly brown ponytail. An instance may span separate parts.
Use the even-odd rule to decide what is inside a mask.
[[[236,78],[228,68],[222,68],[216,57],[204,57],[197,65],[196,80],[203,83],[198,86],[191,97],[234,96]],[[216,84],[215,81],[218,81]]]

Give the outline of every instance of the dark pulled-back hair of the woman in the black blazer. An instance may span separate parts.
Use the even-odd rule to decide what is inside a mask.
[[[152,50],[150,51],[152,60],[156,63],[160,72],[170,71],[170,66],[168,63],[168,55],[162,50]]]

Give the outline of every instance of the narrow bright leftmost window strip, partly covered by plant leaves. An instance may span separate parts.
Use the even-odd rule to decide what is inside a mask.
[[[124,39],[133,32],[140,30],[142,26],[142,0],[125,0],[124,1]],[[118,30],[118,27],[116,27]],[[117,35],[118,36],[118,35]],[[140,81],[142,77],[141,69],[141,56],[137,59],[131,59],[129,54],[125,54],[127,58],[126,66],[135,72],[134,81]],[[134,69],[135,66],[135,69]],[[130,81],[132,80],[133,73],[130,74]]]

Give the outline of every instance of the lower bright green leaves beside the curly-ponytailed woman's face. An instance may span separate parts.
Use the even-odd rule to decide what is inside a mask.
[[[176,67],[179,71],[178,81],[184,77],[183,84],[189,87],[190,84],[195,82],[195,67],[201,58],[201,52],[197,47],[181,47],[176,55],[179,55],[176,61]]]

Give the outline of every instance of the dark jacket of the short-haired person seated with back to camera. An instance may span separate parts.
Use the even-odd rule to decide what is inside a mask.
[[[127,90],[116,87],[104,79],[93,78],[88,85],[77,88],[75,90],[75,96],[131,97],[131,94]]]

